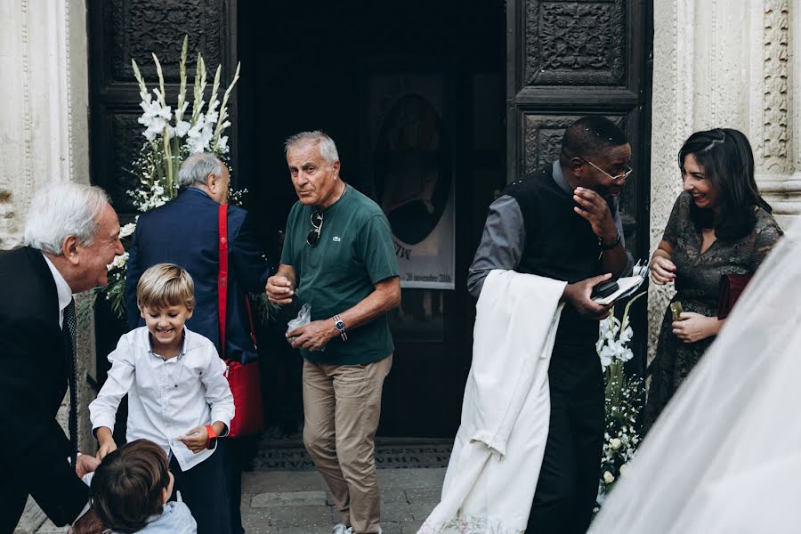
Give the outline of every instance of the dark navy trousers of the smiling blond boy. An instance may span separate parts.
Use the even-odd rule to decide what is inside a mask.
[[[186,471],[181,470],[175,457],[170,458],[170,471],[175,477],[170,500],[176,500],[175,490],[181,491],[183,502],[189,506],[192,517],[198,522],[198,534],[231,533],[223,475],[223,452],[214,451],[212,456]]]

